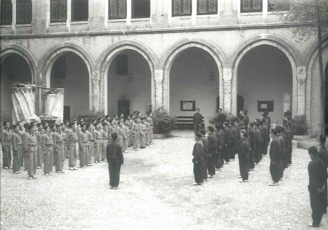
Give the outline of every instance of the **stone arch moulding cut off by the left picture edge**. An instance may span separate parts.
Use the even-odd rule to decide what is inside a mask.
[[[36,71],[38,70],[38,64],[33,55],[24,47],[17,44],[6,44],[0,48],[0,59],[3,61],[10,54],[17,54],[24,58],[31,70],[32,84],[36,84]]]

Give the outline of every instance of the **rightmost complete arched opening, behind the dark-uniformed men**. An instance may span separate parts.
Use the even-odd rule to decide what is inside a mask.
[[[238,66],[237,92],[244,98],[250,120],[268,108],[271,122],[281,123],[283,112],[292,111],[292,79],[290,61],[281,50],[271,45],[249,50]]]

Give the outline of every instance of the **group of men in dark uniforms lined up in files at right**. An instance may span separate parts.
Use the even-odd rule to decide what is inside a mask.
[[[221,116],[220,110],[219,116]],[[219,116],[217,120],[222,121],[222,116]],[[196,143],[193,149],[195,184],[207,180],[207,174],[212,177],[215,170],[221,170],[224,164],[229,164],[237,153],[242,177],[240,182],[247,182],[249,171],[254,171],[262,156],[267,154],[270,143],[270,123],[268,113],[264,113],[262,118],[256,119],[255,122],[249,122],[247,110],[244,110],[239,118],[226,120],[223,124],[216,123],[215,132],[214,127],[208,126],[207,138],[204,129],[195,133]],[[284,119],[282,125],[276,126],[273,133],[275,135],[271,134],[272,138],[278,138],[280,145],[278,149],[275,147],[270,149],[272,161],[270,172],[273,180],[270,185],[278,185],[283,170],[291,165],[293,133],[290,121]]]

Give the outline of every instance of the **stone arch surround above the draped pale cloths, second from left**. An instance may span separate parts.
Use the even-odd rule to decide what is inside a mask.
[[[71,42],[63,42],[60,44],[56,44],[52,48],[50,48],[46,55],[41,60],[44,60],[42,63],[42,73],[41,73],[41,79],[42,82],[40,85],[45,87],[50,87],[50,75],[51,75],[51,69],[57,60],[57,58],[60,57],[65,52],[72,52],[76,55],[78,55],[85,63],[88,73],[89,73],[89,110],[91,111],[94,108],[93,105],[93,84],[95,82],[95,79],[93,79],[93,76],[96,76],[95,73],[95,63],[92,58],[92,56],[89,54],[87,50],[85,50],[83,47],[71,43]]]

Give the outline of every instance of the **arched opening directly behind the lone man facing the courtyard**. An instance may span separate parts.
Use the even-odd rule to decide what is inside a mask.
[[[193,116],[199,108],[204,117],[205,127],[208,117],[213,116],[220,106],[219,72],[214,58],[205,50],[191,47],[181,51],[172,61],[169,72],[169,108],[176,116]],[[181,102],[182,101],[182,102]],[[194,108],[182,107],[182,103],[195,101]]]

